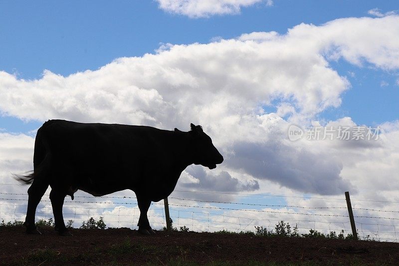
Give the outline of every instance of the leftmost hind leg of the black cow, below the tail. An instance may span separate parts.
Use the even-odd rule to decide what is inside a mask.
[[[28,207],[24,223],[24,226],[26,227],[26,233],[28,234],[41,234],[36,229],[34,218],[37,205],[39,204],[41,197],[43,197],[47,188],[48,184],[40,181],[40,179],[34,179],[32,185],[30,185],[28,189]]]

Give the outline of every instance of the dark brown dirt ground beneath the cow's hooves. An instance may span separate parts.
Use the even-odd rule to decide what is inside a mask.
[[[381,265],[399,264],[399,244],[372,241],[257,237],[158,231],[142,236],[126,228],[53,228],[27,235],[0,228],[0,265]]]

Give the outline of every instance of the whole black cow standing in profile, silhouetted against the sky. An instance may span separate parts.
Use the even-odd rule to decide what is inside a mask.
[[[213,169],[223,157],[201,126],[189,132],[148,126],[77,123],[49,120],[37,131],[33,172],[15,177],[31,186],[25,219],[27,233],[40,233],[34,225],[36,207],[51,187],[55,229],[67,235],[62,216],[66,195],[83,190],[103,196],[130,189],[136,193],[139,233],[153,234],[147,212],[151,202],[168,197],[187,166]]]

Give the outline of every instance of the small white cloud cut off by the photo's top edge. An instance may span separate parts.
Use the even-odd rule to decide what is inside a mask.
[[[237,14],[241,7],[263,2],[273,5],[272,0],[157,0],[159,8],[189,17],[209,17],[211,15]]]

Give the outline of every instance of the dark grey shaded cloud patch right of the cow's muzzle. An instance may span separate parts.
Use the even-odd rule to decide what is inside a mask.
[[[351,184],[340,177],[342,161],[328,150],[316,154],[281,143],[259,145],[242,142],[234,146],[234,151],[229,166],[246,169],[256,178],[272,180],[307,193],[329,195],[353,190]]]

